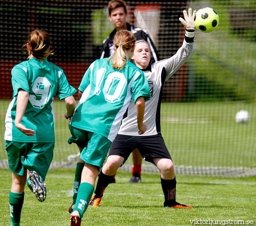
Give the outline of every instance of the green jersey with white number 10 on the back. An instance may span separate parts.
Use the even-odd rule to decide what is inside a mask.
[[[121,70],[112,59],[94,61],[85,72],[79,90],[83,92],[71,118],[71,126],[108,138],[116,137],[121,120],[131,100],[151,97],[144,73],[127,62]]]

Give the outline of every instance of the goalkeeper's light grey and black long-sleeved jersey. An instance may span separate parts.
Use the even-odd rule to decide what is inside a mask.
[[[193,46],[193,41],[188,43],[184,40],[175,55],[152,64],[151,71],[144,71],[152,97],[145,103],[144,123],[147,125],[147,130],[139,136],[156,135],[160,132],[160,107],[163,84],[188,60],[192,54]],[[133,102],[128,106],[127,115],[122,120],[118,134],[138,136],[136,106]]]

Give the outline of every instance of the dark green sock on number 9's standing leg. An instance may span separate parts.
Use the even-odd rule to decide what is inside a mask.
[[[9,200],[10,200],[10,216],[11,216],[12,226],[19,226],[21,209],[24,202],[24,192],[13,193],[10,191]]]

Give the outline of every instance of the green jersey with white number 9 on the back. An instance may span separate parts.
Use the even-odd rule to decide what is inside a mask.
[[[54,142],[53,97],[60,99],[71,96],[76,89],[68,84],[62,69],[48,62],[32,58],[15,65],[11,71],[13,99],[5,116],[4,139],[16,142]],[[27,136],[15,125],[16,100],[19,89],[29,93],[21,123],[35,131],[34,136]]]

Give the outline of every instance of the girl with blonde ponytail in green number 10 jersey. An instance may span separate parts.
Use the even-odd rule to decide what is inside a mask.
[[[135,46],[133,33],[117,32],[114,45],[111,57],[94,61],[84,74],[78,88],[81,98],[69,124],[72,137],[68,142],[79,146],[80,162],[85,162],[71,226],[81,224],[96,177],[131,100],[136,105],[138,133],[147,129],[143,123],[145,98],[151,95],[144,73],[129,61]]]

